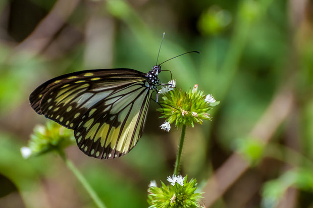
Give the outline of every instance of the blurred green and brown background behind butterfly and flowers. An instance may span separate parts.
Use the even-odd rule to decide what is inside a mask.
[[[241,170],[201,204],[313,207],[311,0],[0,1],[0,207],[95,206],[58,155],[21,157],[33,127],[45,123],[28,96],[74,71],[148,72],[163,32],[160,62],[201,52],[162,66],[177,87],[198,84],[221,101],[212,121],[187,128],[181,173],[197,178],[206,192],[213,174],[228,183],[221,173],[232,174],[229,165]],[[169,81],[169,73],[160,79]],[[160,184],[173,173],[180,131],[161,130],[156,108],[151,102],[144,135],[122,158],[88,158],[75,145],[66,150],[108,207],[147,207],[149,181]],[[251,134],[256,124],[264,128]],[[249,163],[247,170],[228,161],[234,152]]]

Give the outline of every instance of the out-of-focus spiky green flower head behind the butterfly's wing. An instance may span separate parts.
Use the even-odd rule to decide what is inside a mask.
[[[52,150],[62,150],[74,141],[71,130],[56,122],[48,121],[45,126],[35,126],[34,133],[30,135],[28,147],[22,147],[21,154],[26,159]]]

